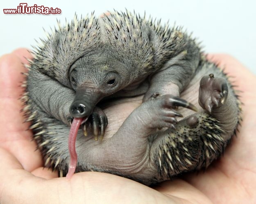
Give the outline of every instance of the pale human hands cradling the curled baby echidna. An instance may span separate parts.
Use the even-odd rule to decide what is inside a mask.
[[[207,171],[188,173],[150,188],[107,173],[76,173],[70,180],[43,169],[29,124],[23,123],[19,86],[31,58],[17,49],[0,58],[0,203],[255,203],[256,76],[229,55],[208,57],[219,62],[238,86],[242,126],[224,156]],[[232,80],[232,79],[231,79]],[[129,104],[131,107],[135,104]]]

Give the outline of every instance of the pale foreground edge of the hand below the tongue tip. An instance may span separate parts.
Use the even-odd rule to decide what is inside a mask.
[[[113,203],[113,197],[115,203],[122,203],[130,200],[136,192],[140,192],[136,197],[139,203],[152,202],[155,197],[161,203],[171,201],[172,196],[168,192],[167,196],[127,178],[108,173],[82,172],[75,174],[71,180],[64,177],[45,180],[22,170],[19,162],[7,151],[0,149],[0,155],[4,156],[0,160],[0,166],[3,167],[0,168],[1,203],[17,203],[17,200],[18,203],[84,203],[85,200],[91,203]],[[111,184],[115,185],[109,188]],[[116,196],[116,192],[120,195]]]

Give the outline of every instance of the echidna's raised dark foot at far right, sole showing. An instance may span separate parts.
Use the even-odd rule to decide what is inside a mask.
[[[211,113],[213,108],[222,106],[229,93],[227,81],[223,78],[215,78],[211,73],[202,77],[199,87],[199,105]]]

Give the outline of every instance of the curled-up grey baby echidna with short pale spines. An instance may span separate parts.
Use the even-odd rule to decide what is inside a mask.
[[[128,11],[75,16],[32,53],[24,111],[45,166],[61,176],[71,154],[70,177],[169,180],[211,164],[240,122],[227,76],[179,27]],[[140,105],[127,112],[129,101]]]

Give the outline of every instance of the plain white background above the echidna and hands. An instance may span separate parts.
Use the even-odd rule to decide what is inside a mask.
[[[60,15],[18,14],[7,15],[2,9],[16,9],[20,3],[28,6],[53,7],[61,9]],[[96,16],[106,10],[135,10],[142,16],[169,20],[183,25],[193,36],[202,41],[206,52],[229,53],[235,56],[256,73],[256,1],[255,0],[84,0],[83,2],[57,1],[1,1],[0,2],[0,55],[9,53],[18,47],[31,49],[36,45],[34,39],[45,38],[42,29],[50,31],[57,25],[56,18],[65,22],[75,14],[85,16],[95,11]]]

